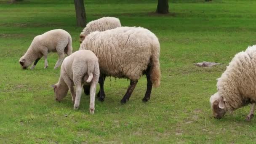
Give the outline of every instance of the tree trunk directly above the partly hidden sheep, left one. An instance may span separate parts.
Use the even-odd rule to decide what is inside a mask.
[[[83,0],[74,0],[75,3],[75,13],[77,17],[77,27],[86,26],[86,15],[85,15],[85,5]]]

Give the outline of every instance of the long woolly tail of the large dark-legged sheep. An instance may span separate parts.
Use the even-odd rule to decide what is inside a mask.
[[[150,79],[154,87],[159,87],[160,85],[161,72],[160,72],[159,55],[160,55],[160,44],[158,42],[153,47],[152,55],[151,55]]]

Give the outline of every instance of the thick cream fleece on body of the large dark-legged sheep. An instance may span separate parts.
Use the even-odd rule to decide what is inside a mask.
[[[120,27],[92,32],[80,49],[88,49],[96,54],[101,73],[138,80],[149,64],[152,45],[155,44],[152,41],[154,36],[144,28]]]

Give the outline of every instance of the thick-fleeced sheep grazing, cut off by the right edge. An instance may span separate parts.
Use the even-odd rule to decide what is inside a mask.
[[[237,53],[217,80],[217,92],[210,98],[213,117],[220,119],[226,112],[251,103],[246,116],[251,120],[256,104],[256,45]]]

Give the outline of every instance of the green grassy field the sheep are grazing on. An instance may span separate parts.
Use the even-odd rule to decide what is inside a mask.
[[[82,95],[73,110],[71,94],[58,103],[50,85],[59,80],[53,70],[56,53],[34,70],[22,70],[19,58],[33,37],[65,29],[79,49],[72,0],[0,0],[0,143],[252,143],[256,118],[245,121],[249,106],[211,115],[210,96],[216,78],[239,51],[256,44],[256,1],[169,0],[170,14],[158,15],[156,0],[85,0],[88,21],[118,17],[123,26],[145,27],[160,40],[162,80],[149,102],[141,99],[141,77],[130,101],[120,104],[129,81],[107,78],[106,99],[96,100],[89,114],[89,97]],[[195,67],[201,61],[219,62],[213,68]],[[97,88],[99,89],[99,88]]]

